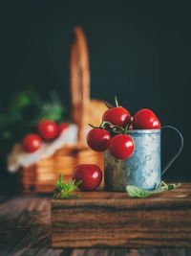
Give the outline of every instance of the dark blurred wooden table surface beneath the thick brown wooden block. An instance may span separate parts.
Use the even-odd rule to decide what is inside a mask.
[[[191,248],[52,249],[51,198],[0,197],[0,255],[188,256]]]

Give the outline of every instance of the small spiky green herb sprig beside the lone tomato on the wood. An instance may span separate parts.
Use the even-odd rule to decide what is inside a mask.
[[[59,178],[56,181],[55,189],[53,191],[53,198],[68,199],[68,198],[80,198],[79,195],[74,194],[74,191],[81,184],[81,181],[75,181],[69,179],[66,183],[63,181],[63,175],[59,174]]]

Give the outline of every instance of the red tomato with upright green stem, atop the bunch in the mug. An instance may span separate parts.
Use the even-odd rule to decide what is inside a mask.
[[[129,111],[122,106],[112,107],[104,112],[102,121],[125,128],[131,122],[131,115]]]

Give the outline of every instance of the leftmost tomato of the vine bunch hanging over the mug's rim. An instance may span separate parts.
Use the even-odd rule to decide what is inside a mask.
[[[94,151],[106,151],[110,146],[110,132],[104,128],[93,128],[86,138],[88,146]]]

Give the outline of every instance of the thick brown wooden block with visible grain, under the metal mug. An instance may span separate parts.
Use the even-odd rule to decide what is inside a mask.
[[[191,184],[153,198],[80,194],[52,200],[53,247],[191,247]]]

